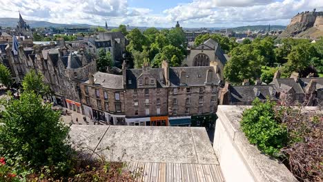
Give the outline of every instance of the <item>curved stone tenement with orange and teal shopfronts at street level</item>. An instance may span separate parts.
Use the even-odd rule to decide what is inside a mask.
[[[112,124],[190,125],[192,116],[217,109],[216,65],[170,68],[164,61],[162,68],[126,69],[124,63],[122,72],[97,72],[81,82],[84,114],[97,117],[98,110],[99,119]]]

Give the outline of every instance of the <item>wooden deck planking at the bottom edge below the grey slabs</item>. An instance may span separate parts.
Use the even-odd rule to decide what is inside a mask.
[[[136,181],[147,182],[224,182],[219,165],[192,163],[127,163]]]

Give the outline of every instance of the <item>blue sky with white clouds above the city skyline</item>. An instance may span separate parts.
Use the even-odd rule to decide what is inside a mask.
[[[1,0],[0,17],[87,23],[93,26],[228,28],[287,25],[291,18],[323,0]],[[6,5],[6,6],[3,6]]]

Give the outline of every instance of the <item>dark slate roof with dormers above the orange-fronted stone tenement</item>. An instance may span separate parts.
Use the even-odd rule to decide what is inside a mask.
[[[179,72],[181,72],[181,70],[186,72],[187,85],[204,85],[206,82],[206,71],[209,69],[213,70],[213,84],[217,85],[220,79],[217,77],[214,68],[211,66],[173,67],[169,68],[170,87],[179,86]],[[142,69],[126,70],[127,88],[137,88],[137,78],[141,73]],[[150,68],[150,75],[157,80],[157,88],[166,88],[163,68]],[[131,80],[131,83],[128,83],[129,80]]]

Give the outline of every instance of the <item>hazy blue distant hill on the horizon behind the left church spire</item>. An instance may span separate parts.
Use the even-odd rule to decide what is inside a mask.
[[[16,27],[17,22],[19,19],[15,18],[0,18],[0,26],[1,27]],[[43,28],[43,27],[54,27],[54,28],[60,28],[60,27],[92,27],[88,24],[61,24],[61,23],[50,23],[48,21],[25,21],[28,23],[28,25],[31,28]]]

